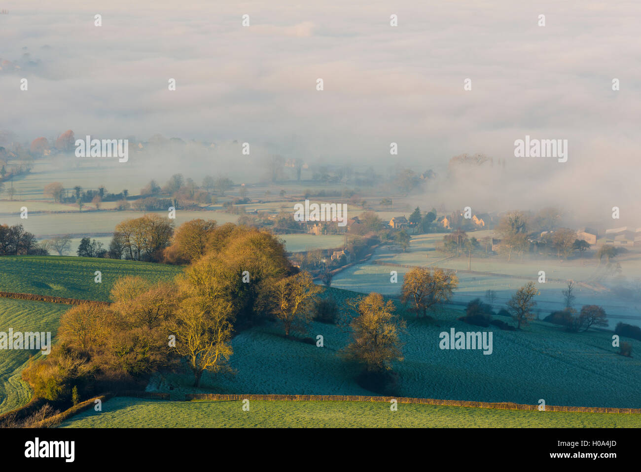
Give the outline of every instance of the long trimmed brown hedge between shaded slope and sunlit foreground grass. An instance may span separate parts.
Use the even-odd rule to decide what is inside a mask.
[[[191,400],[266,400],[266,401],[379,401],[389,403],[396,400],[398,403],[415,403],[420,405],[443,405],[447,407],[472,407],[488,408],[495,410],[538,410],[538,405],[524,405],[521,403],[501,402],[490,403],[487,401],[465,400],[435,400],[433,398],[408,398],[394,396],[355,396],[355,395],[238,395],[215,393],[188,393],[187,401]],[[606,408],[606,407],[562,407],[545,405],[546,412],[583,412],[583,413],[622,413],[641,414],[639,408]]]

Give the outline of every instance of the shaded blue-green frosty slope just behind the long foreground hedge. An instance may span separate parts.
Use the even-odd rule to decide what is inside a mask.
[[[336,289],[331,292],[339,305],[356,295]],[[547,405],[641,408],[641,360],[617,355],[611,333],[570,334],[541,321],[522,332],[509,332],[456,321],[461,315],[445,309],[437,321],[407,318],[408,330],[401,336],[405,359],[394,366],[399,374],[395,395],[530,405],[544,399]],[[510,319],[504,321],[511,323]],[[439,333],[450,328],[492,332],[492,354],[441,350]],[[338,326],[314,322],[305,336],[315,340],[317,335],[323,336],[322,348],[285,339],[279,325],[257,326],[239,333],[231,343],[235,376],[204,373],[201,389],[194,389],[190,375],[158,375],[147,390],[174,394],[372,394],[355,380],[359,367],[338,356],[338,350],[349,342],[347,333]],[[641,351],[640,341],[624,341],[633,344],[635,353]]]

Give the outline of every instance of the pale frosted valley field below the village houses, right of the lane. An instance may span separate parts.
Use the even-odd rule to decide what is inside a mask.
[[[472,234],[476,233],[470,233],[470,235]],[[619,321],[641,326],[641,303],[638,299],[621,296],[602,285],[595,275],[599,266],[596,258],[574,259],[567,262],[524,260],[523,262],[509,263],[499,257],[472,258],[472,271],[491,272],[497,275],[465,273],[462,271],[467,270],[467,257],[452,258],[434,250],[435,244],[442,240],[442,236],[442,234],[430,234],[412,237],[412,245],[404,253],[390,246],[378,248],[365,264],[349,267],[336,274],[332,279],[332,285],[340,289],[362,292],[376,291],[388,296],[398,296],[403,285],[403,276],[410,269],[374,264],[374,260],[410,266],[444,267],[459,271],[457,273],[459,285],[458,289],[454,291],[453,301],[467,303],[474,298],[487,301],[485,300],[485,292],[491,289],[496,292],[495,310],[499,310],[504,307],[519,287],[528,282],[525,278],[508,276],[537,277],[538,271],[544,270],[548,279],[572,278],[578,282],[574,292],[576,296],[575,308],[580,309],[581,305],[603,307],[610,317],[609,328],[613,329]],[[636,253],[624,256],[620,258],[620,264],[623,273],[628,274],[629,282],[637,276],[637,273],[641,274],[641,260],[638,259]],[[390,283],[390,271],[397,271],[397,283]],[[501,276],[501,274],[506,276]],[[616,286],[620,282],[610,280],[610,283]],[[540,310],[541,318],[552,311],[563,309],[562,292],[567,289],[564,282],[547,280],[546,283],[538,283],[537,288],[540,295],[536,297],[535,311]]]

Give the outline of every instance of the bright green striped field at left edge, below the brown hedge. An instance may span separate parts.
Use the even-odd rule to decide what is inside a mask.
[[[58,321],[67,305],[44,301],[0,299],[0,331],[51,332],[53,340]],[[29,355],[40,356],[34,350],[0,350],[0,413],[28,403],[31,391],[21,378],[22,369],[29,363]]]

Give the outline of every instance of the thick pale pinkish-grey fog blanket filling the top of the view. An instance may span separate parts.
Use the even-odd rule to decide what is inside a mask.
[[[441,183],[443,199],[641,212],[638,1],[2,0],[0,9],[9,11],[0,130],[23,140],[159,133],[249,142],[258,160],[440,174],[452,156],[484,153],[505,158],[505,173]],[[567,139],[567,162],[516,158],[526,135]]]

